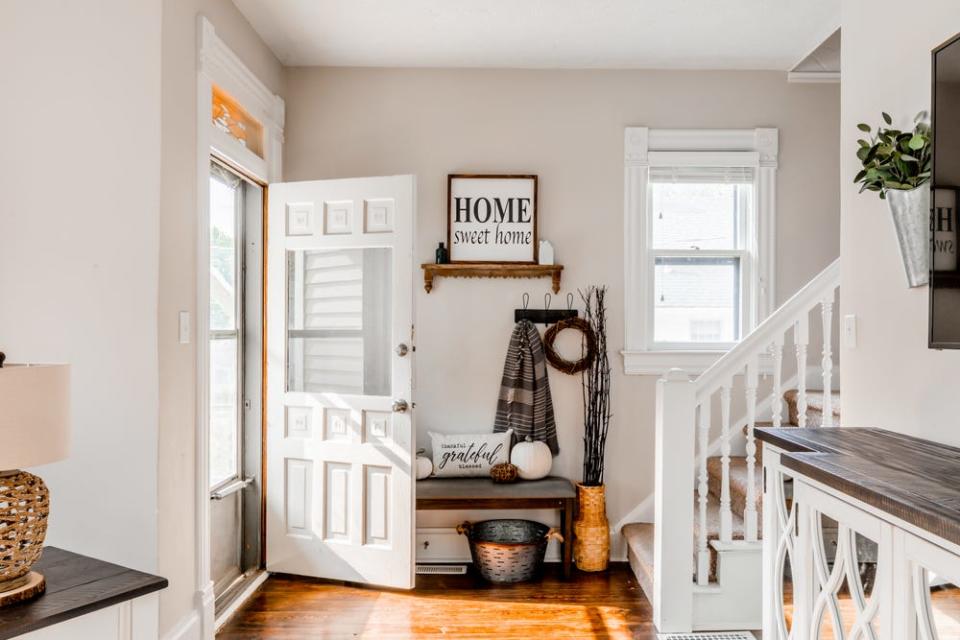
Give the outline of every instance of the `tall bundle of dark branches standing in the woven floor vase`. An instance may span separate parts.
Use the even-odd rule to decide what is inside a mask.
[[[596,357],[581,374],[583,384],[583,484],[603,484],[603,456],[610,427],[610,360],[607,358],[606,287],[580,291],[584,316],[596,337]]]

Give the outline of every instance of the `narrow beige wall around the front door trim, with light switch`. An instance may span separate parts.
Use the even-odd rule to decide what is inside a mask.
[[[194,499],[196,344],[177,340],[177,314],[196,317],[197,14],[272,91],[281,92],[280,63],[229,0],[163,3],[163,149],[160,199],[160,573],[161,634],[196,606]],[[196,335],[196,332],[194,332]]]

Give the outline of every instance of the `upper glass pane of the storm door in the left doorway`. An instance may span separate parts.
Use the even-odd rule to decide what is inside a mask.
[[[237,209],[239,180],[210,178],[210,328],[237,323]]]

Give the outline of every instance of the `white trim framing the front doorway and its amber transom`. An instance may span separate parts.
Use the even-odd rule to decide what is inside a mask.
[[[210,578],[210,488],[209,478],[209,242],[210,193],[207,185],[210,158],[216,155],[266,184],[281,179],[284,102],[274,95],[239,57],[220,39],[213,24],[197,18],[197,299],[194,313],[194,344],[197,367],[196,399],[196,529],[194,532],[196,615],[200,637],[214,637],[213,581]],[[264,127],[264,156],[259,158],[242,144],[218,131],[211,122],[211,91],[216,84],[247,109]]]

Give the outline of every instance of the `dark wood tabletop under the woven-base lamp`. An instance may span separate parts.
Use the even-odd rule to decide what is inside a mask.
[[[0,608],[0,640],[165,589],[165,578],[46,547],[33,566],[47,580],[36,600]]]

